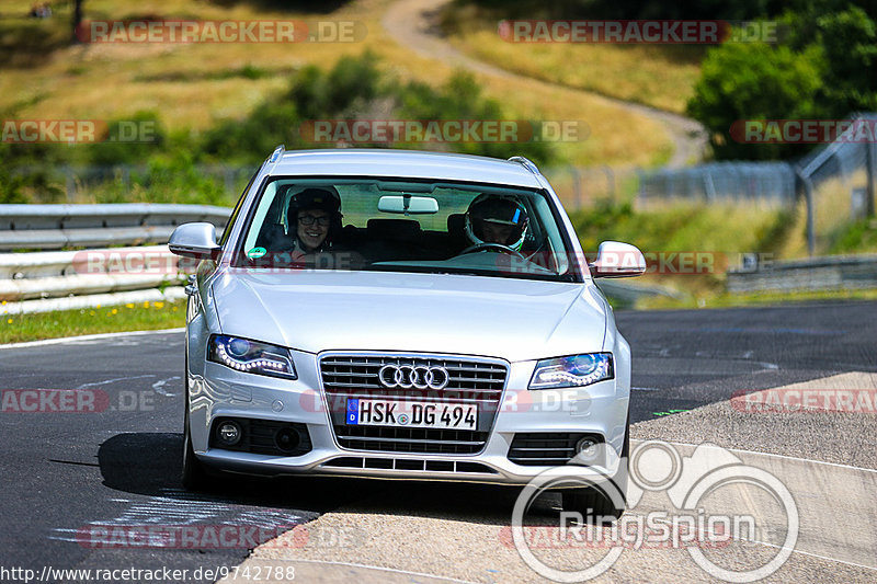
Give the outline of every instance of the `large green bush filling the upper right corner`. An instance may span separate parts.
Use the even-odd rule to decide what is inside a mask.
[[[737,119],[843,118],[877,110],[877,7],[870,0],[793,2],[781,44],[726,44],[703,64],[688,113],[714,133],[718,158],[777,159],[805,147],[740,145]],[[777,12],[771,4],[768,12]]]

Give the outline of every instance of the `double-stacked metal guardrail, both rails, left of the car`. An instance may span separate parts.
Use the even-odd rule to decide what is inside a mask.
[[[0,314],[175,300],[186,260],[164,242],[190,221],[221,228],[231,209],[208,205],[0,205]],[[161,245],[115,247],[160,242]]]

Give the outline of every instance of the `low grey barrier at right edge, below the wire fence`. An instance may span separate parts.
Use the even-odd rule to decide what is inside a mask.
[[[851,288],[877,288],[877,254],[771,262],[728,271],[728,291],[734,294]]]

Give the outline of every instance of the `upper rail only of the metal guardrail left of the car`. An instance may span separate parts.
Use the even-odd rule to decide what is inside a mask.
[[[163,243],[178,225],[224,227],[230,214],[209,205],[0,205],[0,250]]]

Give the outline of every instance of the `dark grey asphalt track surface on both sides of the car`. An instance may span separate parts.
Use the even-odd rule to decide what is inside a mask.
[[[635,359],[631,422],[676,414],[681,420],[685,411],[725,402],[736,391],[877,371],[875,313],[874,302],[619,312],[618,327]],[[239,564],[248,548],[141,548],[130,542],[94,548],[88,535],[94,526],[191,523],[283,531],[341,505],[386,494],[383,482],[331,479],[236,481],[217,485],[216,494],[186,494],[179,480],[182,339],[181,333],[151,333],[0,350],[0,568],[37,574],[44,566],[187,569],[186,580],[194,581],[197,569]],[[9,411],[32,403],[22,392],[9,401],[9,390],[32,389],[91,390],[103,411]],[[52,409],[52,403],[43,405]],[[759,428],[765,448],[772,440],[764,434],[771,432],[771,426]],[[809,453],[807,458],[819,459],[819,449]],[[496,496],[491,488],[467,488],[465,494],[459,486],[443,489],[430,488],[435,496],[428,497],[429,504],[408,486],[394,499],[409,501],[419,515],[417,505],[465,496],[465,516],[467,508],[478,507],[478,497]]]

